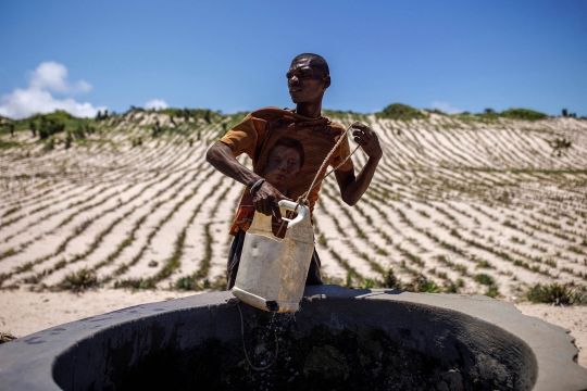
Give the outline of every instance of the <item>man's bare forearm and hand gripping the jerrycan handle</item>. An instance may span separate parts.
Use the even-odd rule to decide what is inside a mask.
[[[222,174],[241,182],[245,186],[248,186],[249,188],[261,179],[259,175],[240,164],[233,154],[230,147],[222,141],[216,141],[212,147],[210,147],[205,154],[205,160]],[[251,195],[254,209],[258,212],[261,212],[267,216],[273,214],[277,217],[277,220],[282,219],[282,214],[277,202],[280,200],[288,200],[287,197],[282,194],[277,189],[266,181],[263,182],[261,187],[255,188],[254,193]]]

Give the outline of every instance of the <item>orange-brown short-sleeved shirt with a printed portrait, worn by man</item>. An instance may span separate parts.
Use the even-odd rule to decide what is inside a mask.
[[[265,108],[248,114],[228,130],[221,141],[230,147],[235,156],[246,153],[252,160],[253,172],[260,176],[265,171],[271,148],[279,138],[287,136],[300,141],[304,150],[303,167],[288,188],[289,197],[297,200],[308,191],[322,162],[344,133],[342,126],[325,117],[309,118],[290,110]],[[349,154],[350,147],[346,138],[320,173],[319,180],[326,175],[328,166],[337,166]],[[352,161],[349,159],[338,169],[348,172],[352,168]],[[310,211],[314,210],[320,188],[321,185],[317,185],[308,197]],[[253,215],[254,207],[249,188],[246,188],[230,234],[235,235],[239,228],[245,231],[249,229]]]

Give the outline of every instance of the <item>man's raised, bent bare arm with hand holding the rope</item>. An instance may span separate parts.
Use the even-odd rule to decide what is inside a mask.
[[[354,169],[348,172],[336,171],[336,181],[340,188],[342,201],[349,205],[354,205],[371,185],[375,168],[383,156],[383,150],[379,146],[377,135],[366,125],[355,124],[353,127],[354,141],[361,146],[363,151],[369,156],[367,163],[364,165],[361,173],[354,176]]]

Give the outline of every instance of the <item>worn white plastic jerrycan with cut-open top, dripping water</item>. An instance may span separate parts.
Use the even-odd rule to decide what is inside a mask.
[[[297,312],[312,254],[314,232],[310,210],[291,201],[279,201],[298,216],[288,222],[284,239],[272,231],[271,216],[255,212],[242,243],[242,254],[233,294],[247,304],[278,313]]]

